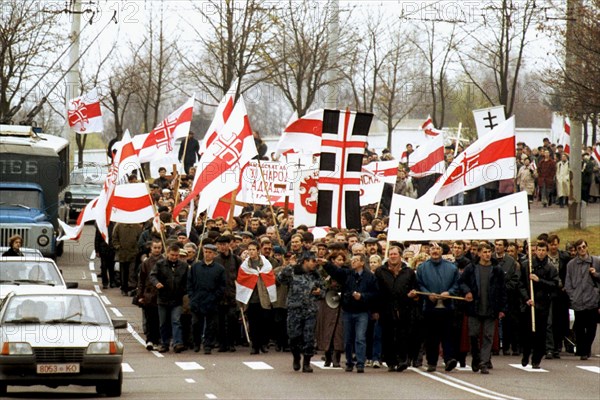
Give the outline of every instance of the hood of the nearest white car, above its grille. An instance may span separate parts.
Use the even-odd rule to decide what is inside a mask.
[[[1,342],[28,342],[32,347],[87,347],[117,339],[108,325],[3,324],[0,332]]]

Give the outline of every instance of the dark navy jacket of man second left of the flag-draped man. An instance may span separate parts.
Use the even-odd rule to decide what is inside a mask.
[[[192,312],[216,312],[225,293],[225,268],[214,261],[210,265],[195,263],[188,271],[187,293]]]

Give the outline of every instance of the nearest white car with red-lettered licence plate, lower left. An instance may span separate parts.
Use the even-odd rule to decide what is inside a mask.
[[[49,286],[17,287],[0,304],[0,396],[7,386],[96,386],[121,395],[123,344],[98,295]]]

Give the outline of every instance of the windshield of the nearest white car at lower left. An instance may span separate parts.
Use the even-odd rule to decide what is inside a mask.
[[[110,324],[104,305],[92,295],[17,295],[11,297],[4,308],[6,312],[2,317],[2,324]]]

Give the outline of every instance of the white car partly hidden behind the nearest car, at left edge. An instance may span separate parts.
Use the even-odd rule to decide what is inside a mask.
[[[0,257],[0,300],[16,286],[46,285],[76,288],[65,282],[54,260],[43,257]]]

